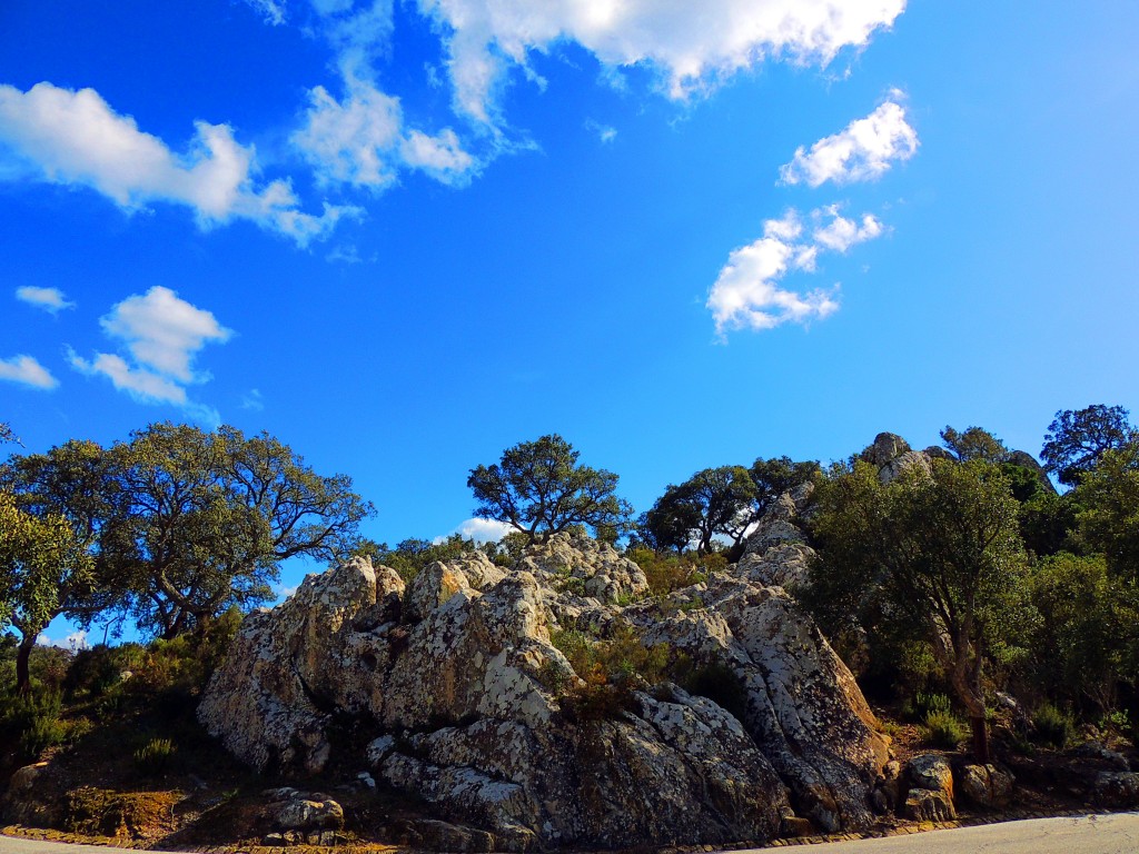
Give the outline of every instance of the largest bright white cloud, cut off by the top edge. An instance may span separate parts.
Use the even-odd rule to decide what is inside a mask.
[[[495,123],[511,65],[574,41],[608,67],[650,65],[686,98],[767,59],[827,65],[888,27],[906,0],[418,0],[444,33],[459,112]]]

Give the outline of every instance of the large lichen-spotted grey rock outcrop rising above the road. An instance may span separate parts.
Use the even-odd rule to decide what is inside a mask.
[[[260,770],[368,770],[498,848],[866,826],[887,739],[781,586],[810,558],[805,499],[785,495],[729,572],[666,598],[609,547],[564,534],[509,570],[472,555],[410,585],[352,560],[245,621],[199,720]],[[723,700],[734,714],[630,680],[608,706],[583,705],[591,674],[555,644],[568,633],[665,644],[666,672],[719,674],[740,701]],[[367,748],[337,737],[346,720]]]

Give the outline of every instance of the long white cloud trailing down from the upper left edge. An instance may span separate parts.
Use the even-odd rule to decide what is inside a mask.
[[[239,145],[228,125],[195,122],[195,131],[187,153],[175,155],[93,89],[0,85],[0,161],[7,149],[42,180],[90,187],[125,211],[186,205],[203,229],[244,219],[298,246],[326,237],[342,216],[359,215],[327,204],[320,215],[301,212],[288,181],[254,186],[254,148]]]

